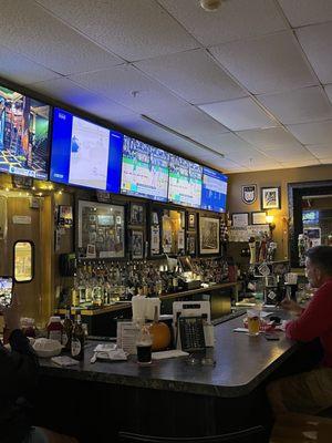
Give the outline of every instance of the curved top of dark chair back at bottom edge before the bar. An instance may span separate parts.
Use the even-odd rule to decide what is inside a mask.
[[[259,443],[266,435],[263,426],[248,427],[242,431],[214,436],[152,436],[120,432],[118,441],[124,443]]]

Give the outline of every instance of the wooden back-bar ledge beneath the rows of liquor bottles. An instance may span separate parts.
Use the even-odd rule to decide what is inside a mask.
[[[237,288],[238,285],[240,285],[240,281],[234,281],[234,282],[225,282],[225,284],[215,284],[210,285],[207,288],[198,288],[198,289],[190,289],[186,291],[178,291],[178,292],[172,292],[172,293],[163,293],[159,298],[160,300],[170,300],[170,299],[176,299],[180,297],[190,297],[196,293],[204,293],[204,292],[209,292],[212,290],[220,290],[220,289],[227,289],[227,288],[234,288],[236,292],[236,298],[237,298]],[[95,307],[95,308],[86,308],[84,306],[80,307],[72,307],[71,308],[71,313],[74,315],[75,312],[80,311],[82,316],[98,316],[101,313],[106,313],[106,312],[115,312],[120,311],[123,309],[129,309],[132,307],[131,301],[118,301],[113,305],[107,305],[107,306],[101,306],[101,307]],[[58,309],[55,310],[55,313],[58,315],[65,315],[66,310],[65,309]]]

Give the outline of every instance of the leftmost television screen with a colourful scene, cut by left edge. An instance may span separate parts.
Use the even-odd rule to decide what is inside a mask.
[[[0,86],[0,171],[48,179],[50,106]]]

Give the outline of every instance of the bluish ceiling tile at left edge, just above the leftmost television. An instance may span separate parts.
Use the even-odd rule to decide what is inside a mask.
[[[56,79],[60,74],[0,45],[0,76],[27,85]]]

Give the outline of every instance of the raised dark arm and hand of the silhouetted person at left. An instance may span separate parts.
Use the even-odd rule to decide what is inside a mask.
[[[4,322],[10,331],[11,351],[0,346],[0,396],[23,395],[37,383],[38,358],[29,340],[19,329],[18,301],[13,298],[10,308],[3,310]]]

